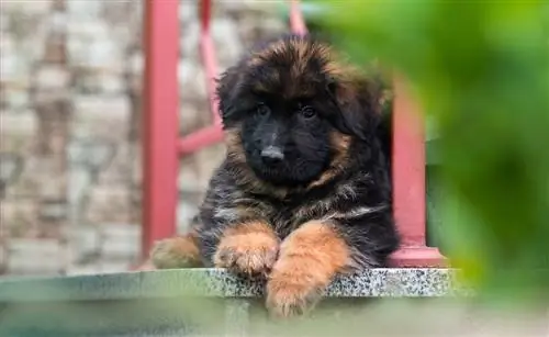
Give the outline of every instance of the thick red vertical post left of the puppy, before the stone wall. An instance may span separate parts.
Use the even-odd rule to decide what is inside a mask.
[[[143,241],[176,232],[178,171],[178,0],[145,0]]]

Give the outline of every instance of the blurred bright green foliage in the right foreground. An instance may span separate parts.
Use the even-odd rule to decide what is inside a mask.
[[[394,68],[434,119],[439,236],[467,281],[549,297],[549,2],[306,3],[351,60]]]

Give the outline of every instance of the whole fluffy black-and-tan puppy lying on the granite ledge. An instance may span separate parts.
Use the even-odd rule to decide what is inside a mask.
[[[228,68],[217,93],[226,158],[199,222],[153,263],[264,274],[277,316],[311,310],[339,273],[384,267],[399,235],[377,82],[285,35]]]

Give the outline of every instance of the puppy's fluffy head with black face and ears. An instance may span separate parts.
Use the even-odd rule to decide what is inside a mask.
[[[345,166],[354,139],[370,141],[376,88],[310,37],[259,46],[219,82],[229,155],[274,186],[322,183]]]

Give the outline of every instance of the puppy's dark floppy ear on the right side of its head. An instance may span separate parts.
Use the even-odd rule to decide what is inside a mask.
[[[367,79],[332,80],[327,89],[340,111],[338,128],[368,141],[381,121],[379,86]]]

